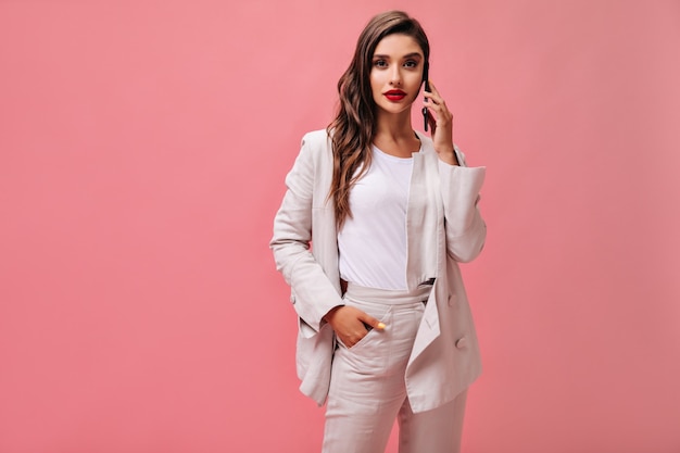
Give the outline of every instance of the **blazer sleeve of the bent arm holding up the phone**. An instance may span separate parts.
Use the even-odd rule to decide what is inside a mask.
[[[486,167],[468,167],[465,155],[455,147],[459,165],[439,161],[439,175],[444,204],[446,253],[459,262],[479,255],[487,238],[487,225],[479,212],[479,191]]]

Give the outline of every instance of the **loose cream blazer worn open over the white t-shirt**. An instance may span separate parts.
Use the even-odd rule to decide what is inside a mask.
[[[480,374],[479,345],[458,262],[481,251],[487,227],[477,207],[486,168],[442,162],[429,137],[413,154],[406,212],[408,289],[435,279],[406,368],[414,412],[453,400]],[[277,269],[291,287],[299,316],[297,369],[300,390],[324,404],[330,382],[333,331],[322,318],[343,304],[332,202],[331,142],[326,130],[308,133],[274,219],[269,243]]]

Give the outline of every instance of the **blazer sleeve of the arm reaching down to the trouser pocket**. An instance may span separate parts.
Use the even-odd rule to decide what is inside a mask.
[[[315,160],[323,151],[306,135],[292,169],[286,176],[287,191],[274,218],[269,248],[277,269],[291,287],[291,302],[300,316],[305,336],[314,335],[333,306],[342,305],[338,285],[333,285],[311,251],[315,196]],[[315,155],[316,154],[316,155]],[[306,325],[306,326],[305,326]],[[310,331],[308,327],[314,331]]]

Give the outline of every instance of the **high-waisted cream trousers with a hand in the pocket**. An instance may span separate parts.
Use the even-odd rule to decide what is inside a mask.
[[[338,342],[330,375],[323,453],[380,453],[399,423],[399,453],[457,453],[467,392],[414,414],[404,375],[431,287],[386,291],[350,284],[347,305],[386,324],[352,348]]]

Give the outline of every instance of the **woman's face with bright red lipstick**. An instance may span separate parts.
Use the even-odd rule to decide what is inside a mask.
[[[406,35],[388,35],[376,47],[370,89],[378,112],[410,111],[423,83],[425,56],[418,42]]]

